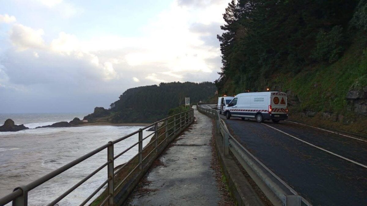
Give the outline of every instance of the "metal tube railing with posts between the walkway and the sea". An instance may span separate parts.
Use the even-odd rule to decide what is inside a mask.
[[[101,165],[99,168],[95,169],[94,172],[90,173],[88,176],[84,177],[84,179],[80,180],[78,183],[76,183],[73,187],[69,188],[69,190],[65,191],[62,195],[58,196],[54,201],[52,201],[51,203],[49,203],[48,205],[53,206],[56,203],[58,203],[59,201],[61,201],[63,198],[65,198],[68,194],[70,194],[72,191],[74,191],[77,187],[79,187],[81,184],[83,184],[85,181],[87,181],[88,179],[90,179],[94,174],[96,174],[97,172],[99,172],[100,170],[102,170],[103,168],[105,168],[105,166],[107,166],[107,173],[108,173],[108,179],[102,184],[100,185],[97,190],[95,190],[94,192],[92,192],[92,194],[90,196],[88,196],[87,199],[85,199],[80,205],[85,205],[88,201],[90,201],[95,194],[98,193],[98,191],[100,191],[106,184],[107,184],[107,191],[108,191],[108,196],[102,201],[102,203],[100,205],[105,205],[105,203],[108,203],[108,205],[113,205],[113,197],[115,192],[119,189],[119,187],[121,187],[121,185],[123,185],[124,181],[137,169],[142,170],[142,165],[143,165],[143,161],[153,152],[158,152],[158,147],[162,144],[162,143],[167,143],[169,137],[172,137],[174,135],[176,135],[177,133],[181,132],[183,129],[185,129],[187,126],[189,126],[194,119],[194,112],[193,109],[190,109],[188,111],[184,111],[182,113],[178,113],[175,115],[172,115],[170,117],[167,117],[165,119],[162,119],[160,121],[157,121],[153,124],[150,124],[149,126],[146,126],[144,128],[141,128],[135,132],[132,132],[124,137],[121,137],[119,139],[116,139],[114,141],[109,141],[107,144],[89,152],[88,154],[83,155],[80,158],[77,158],[76,160],[69,162],[68,164],[62,166],[61,168],[58,168],[48,174],[46,174],[45,176],[27,184],[27,185],[23,185],[23,186],[19,186],[17,188],[14,189],[14,191],[2,198],[0,198],[0,205],[6,205],[7,203],[12,202],[13,206],[25,206],[28,205],[28,192],[33,190],[34,188],[38,187],[39,185],[45,183],[46,181],[54,178],[55,176],[65,172],[66,170],[72,168],[73,166],[79,164],[80,162],[83,162],[84,160],[92,157],[93,155],[105,150],[107,148],[107,159],[108,161],[105,162],[103,165]],[[170,122],[169,122],[170,121]],[[159,124],[162,124],[160,126],[160,128],[158,127]],[[169,125],[172,125],[171,128],[168,128]],[[154,126],[155,127],[155,132],[152,132],[150,135],[146,136],[143,138],[143,130],[148,129],[150,127]],[[162,129],[164,128],[164,132],[160,132]],[[171,132],[171,133],[170,133]],[[137,143],[133,144],[132,146],[130,146],[129,148],[127,148],[126,150],[122,151],[121,153],[119,153],[118,155],[114,156],[113,154],[113,145],[127,139],[128,137],[131,137],[135,134],[139,134],[138,137],[138,141]],[[154,134],[154,141],[150,141],[149,144],[147,144],[145,146],[145,148],[143,149],[143,140],[145,140],[146,138],[148,138],[149,136]],[[158,144],[158,139],[159,137],[164,135],[164,139]],[[152,151],[150,151],[145,158],[143,158],[142,154],[143,151],[145,151],[146,148],[148,148],[148,146],[154,144],[154,149]],[[118,157],[120,157],[121,155],[123,155],[125,152],[129,151],[131,148],[133,148],[134,146],[139,145],[139,150],[138,150],[138,154],[136,154],[134,157],[132,157],[128,162],[126,162],[121,168],[117,169],[116,171],[114,171],[114,161],[115,159],[117,159]],[[139,163],[137,166],[135,166],[135,168],[126,175],[126,177],[117,185],[114,186],[114,180],[115,180],[115,176],[121,172],[121,170],[128,164],[130,163],[134,158],[138,157],[139,158]]]

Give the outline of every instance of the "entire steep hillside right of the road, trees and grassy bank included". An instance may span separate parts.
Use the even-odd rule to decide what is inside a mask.
[[[288,93],[291,118],[367,135],[367,1],[232,1],[219,93]]]

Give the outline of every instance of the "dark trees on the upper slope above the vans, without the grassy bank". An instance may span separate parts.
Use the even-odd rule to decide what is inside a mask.
[[[222,71],[215,82],[237,91],[264,89],[276,72],[338,60],[352,29],[367,28],[366,0],[233,0],[223,15]],[[227,85],[228,87],[228,85]],[[230,89],[229,89],[230,90]]]

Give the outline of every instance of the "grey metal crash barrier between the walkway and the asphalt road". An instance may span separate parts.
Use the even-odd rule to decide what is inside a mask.
[[[210,103],[202,103],[210,104]],[[252,155],[246,148],[242,146],[225,126],[224,121],[221,121],[219,112],[214,109],[203,108],[197,104],[197,110],[214,117],[215,133],[220,134],[223,139],[224,155],[229,155],[229,151],[243,166],[259,188],[268,197],[270,202],[274,205],[283,206],[300,206],[311,205],[305,198],[298,195],[287,183],[281,180],[262,162],[260,162],[254,155]]]

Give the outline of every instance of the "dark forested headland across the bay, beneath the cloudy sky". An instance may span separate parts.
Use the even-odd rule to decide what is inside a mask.
[[[209,99],[217,88],[212,82],[170,82],[127,89],[109,109],[96,107],[84,119],[88,122],[154,122],[167,116],[168,110]]]

